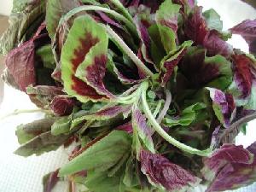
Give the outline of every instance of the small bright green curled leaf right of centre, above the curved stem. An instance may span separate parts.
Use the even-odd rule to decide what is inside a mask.
[[[207,108],[204,103],[198,102],[194,105],[189,106],[188,108],[184,108],[180,117],[178,118],[165,118],[165,124],[168,126],[175,125],[190,125],[194,120],[196,120],[197,113],[200,112],[201,109]]]

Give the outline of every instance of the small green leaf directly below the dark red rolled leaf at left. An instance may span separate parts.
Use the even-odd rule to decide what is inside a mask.
[[[61,117],[60,119],[55,120],[55,123],[51,125],[51,134],[53,136],[58,136],[61,134],[68,133],[70,131],[71,118]]]

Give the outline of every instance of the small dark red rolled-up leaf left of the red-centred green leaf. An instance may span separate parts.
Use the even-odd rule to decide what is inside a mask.
[[[55,96],[50,103],[51,110],[57,116],[68,115],[73,112],[75,101],[67,96]]]

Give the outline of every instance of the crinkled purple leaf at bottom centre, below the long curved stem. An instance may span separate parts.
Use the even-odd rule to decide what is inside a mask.
[[[200,182],[199,178],[172,164],[160,154],[141,150],[140,161],[142,172],[148,177],[149,182],[168,191],[186,190]]]

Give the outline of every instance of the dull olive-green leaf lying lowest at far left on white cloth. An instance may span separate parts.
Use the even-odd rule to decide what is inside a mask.
[[[19,154],[24,157],[32,154],[40,155],[44,152],[49,152],[59,148],[69,137],[69,135],[53,136],[50,131],[47,131],[21,145],[20,148],[15,151],[15,154]]]

